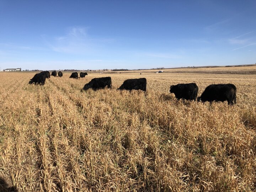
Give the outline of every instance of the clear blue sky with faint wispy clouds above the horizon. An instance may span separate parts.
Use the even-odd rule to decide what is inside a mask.
[[[0,0],[0,67],[252,64],[255,10],[255,0]]]

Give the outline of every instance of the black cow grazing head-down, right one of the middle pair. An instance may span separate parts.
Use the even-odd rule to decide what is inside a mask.
[[[126,90],[142,90],[146,91],[146,78],[139,79],[127,79],[123,82],[123,84],[118,89],[126,89]]]

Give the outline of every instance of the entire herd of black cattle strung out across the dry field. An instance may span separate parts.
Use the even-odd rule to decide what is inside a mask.
[[[57,72],[53,71],[52,76],[57,76]],[[80,77],[84,78],[87,73],[80,73]],[[61,71],[58,72],[58,76],[62,77],[63,74]],[[29,84],[34,83],[44,85],[46,78],[50,78],[49,71],[42,71],[41,73],[37,73],[34,77],[29,81]],[[78,73],[74,72],[70,75],[69,78],[78,79]],[[111,77],[103,77],[103,78],[94,78],[89,83],[84,85],[82,90],[87,89],[103,89],[107,86],[107,88],[112,87]],[[127,79],[123,82],[123,84],[118,88],[118,90],[142,90],[146,91],[146,78],[139,79]],[[182,100],[194,100],[201,102],[210,102],[213,101],[228,101],[228,105],[236,104],[236,86],[233,84],[212,84],[206,87],[200,97],[197,97],[198,86],[195,83],[188,84],[177,84],[171,85],[170,93],[174,93],[177,99]]]

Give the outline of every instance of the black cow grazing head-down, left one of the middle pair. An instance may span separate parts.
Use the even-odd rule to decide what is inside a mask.
[[[111,88],[112,81],[111,77],[104,77],[104,78],[94,78],[89,83],[85,84],[83,90],[87,90],[92,88],[93,90],[103,89],[104,87]]]

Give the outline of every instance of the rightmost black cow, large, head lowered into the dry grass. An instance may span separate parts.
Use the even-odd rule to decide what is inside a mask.
[[[206,87],[197,101],[228,101],[228,105],[236,104],[236,86],[233,84],[212,84]]]

